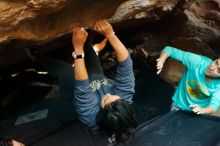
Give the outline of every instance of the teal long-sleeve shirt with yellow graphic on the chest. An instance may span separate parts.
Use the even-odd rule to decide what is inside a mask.
[[[170,46],[166,46],[163,51],[186,66],[172,98],[177,107],[192,111],[189,105],[198,104],[200,107],[211,106],[216,112],[220,103],[220,79],[206,82],[205,77],[205,71],[213,61]]]

